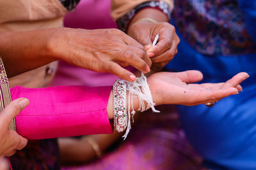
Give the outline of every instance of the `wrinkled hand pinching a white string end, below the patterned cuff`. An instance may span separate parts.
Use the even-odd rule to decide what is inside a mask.
[[[158,43],[156,46],[152,46],[157,33],[159,33]],[[141,20],[132,24],[127,34],[145,46],[148,56],[152,60],[151,69],[154,71],[159,71],[159,69],[168,64],[178,52],[177,46],[180,39],[173,25],[167,22],[154,23]]]

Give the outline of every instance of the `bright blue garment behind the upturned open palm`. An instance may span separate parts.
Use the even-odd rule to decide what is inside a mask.
[[[228,2],[235,1],[227,1],[227,4]],[[256,45],[256,0],[238,0],[237,2],[244,15],[246,31]],[[196,4],[193,3],[192,7],[196,8]],[[173,20],[174,23],[179,24],[175,22],[175,17]],[[182,29],[182,34],[178,32],[179,52],[165,69],[168,71],[200,70],[204,74],[204,80],[200,83],[227,81],[241,71],[250,74],[250,77],[241,84],[243,92],[222,99],[212,108],[207,108],[204,104],[191,107],[178,106],[180,121],[187,138],[195,150],[204,157],[204,164],[210,169],[255,170],[256,53],[204,55],[197,52],[189,45],[190,41],[182,37],[186,35],[186,29],[186,27]]]

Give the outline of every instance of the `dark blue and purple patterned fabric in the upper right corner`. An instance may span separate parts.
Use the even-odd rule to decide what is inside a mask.
[[[175,1],[173,22],[182,37],[205,55],[256,52],[235,0]]]

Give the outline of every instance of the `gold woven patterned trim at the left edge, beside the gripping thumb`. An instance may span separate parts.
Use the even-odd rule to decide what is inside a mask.
[[[0,57],[0,111],[4,110],[5,106],[11,101],[12,97],[10,94],[8,78],[5,73],[3,61]],[[12,119],[9,129],[13,131],[16,130],[15,118]]]

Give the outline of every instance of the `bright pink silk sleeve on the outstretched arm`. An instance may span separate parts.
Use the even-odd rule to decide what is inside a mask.
[[[12,99],[30,104],[16,119],[17,132],[28,139],[112,133],[107,105],[111,87],[13,87]]]

